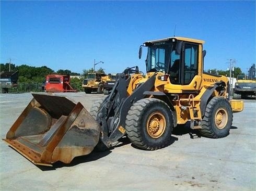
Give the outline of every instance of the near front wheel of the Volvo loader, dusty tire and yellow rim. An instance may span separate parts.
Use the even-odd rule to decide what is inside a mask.
[[[162,100],[138,100],[130,108],[125,123],[127,136],[138,148],[156,150],[170,145],[172,113]]]

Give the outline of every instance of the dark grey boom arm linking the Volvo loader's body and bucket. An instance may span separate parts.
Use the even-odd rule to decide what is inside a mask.
[[[139,85],[130,96],[127,96],[127,86],[132,83],[132,79],[125,79],[124,74],[117,75],[117,83],[111,94],[104,100],[96,118],[103,132],[101,141],[108,148],[125,134],[125,120],[130,107],[137,100],[146,97],[143,93],[154,87],[155,79],[156,74]]]

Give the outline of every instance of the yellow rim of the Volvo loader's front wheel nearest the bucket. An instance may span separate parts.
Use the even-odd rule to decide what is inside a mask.
[[[166,119],[160,112],[150,114],[147,120],[147,133],[152,138],[159,138],[166,129]]]

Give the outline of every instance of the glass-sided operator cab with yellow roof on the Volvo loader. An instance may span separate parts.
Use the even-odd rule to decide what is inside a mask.
[[[189,84],[195,75],[199,75],[199,50],[202,51],[203,43],[183,37],[145,42],[143,46],[148,48],[145,60],[147,72],[169,74],[172,84]]]

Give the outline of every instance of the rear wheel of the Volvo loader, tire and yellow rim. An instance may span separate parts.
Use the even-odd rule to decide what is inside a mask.
[[[233,113],[224,97],[213,97],[206,106],[200,134],[209,138],[222,138],[229,134]]]

